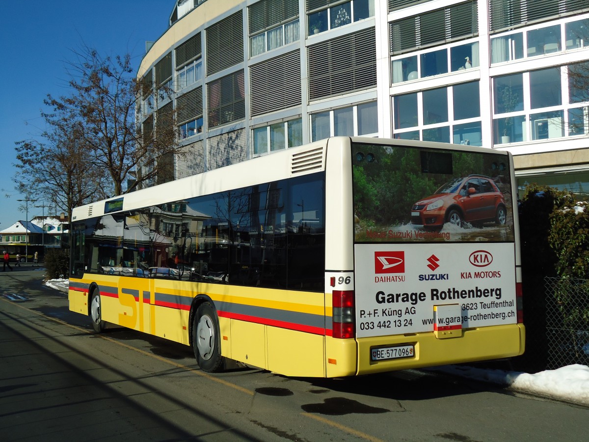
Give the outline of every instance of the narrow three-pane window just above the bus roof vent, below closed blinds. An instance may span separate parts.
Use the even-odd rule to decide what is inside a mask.
[[[256,127],[252,130],[252,133],[254,156],[286,149],[287,147],[302,146],[303,144],[301,118]]]

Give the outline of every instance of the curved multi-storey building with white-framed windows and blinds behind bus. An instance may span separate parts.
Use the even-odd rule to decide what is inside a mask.
[[[179,0],[137,75],[175,178],[363,135],[508,149],[519,186],[587,196],[588,0]]]

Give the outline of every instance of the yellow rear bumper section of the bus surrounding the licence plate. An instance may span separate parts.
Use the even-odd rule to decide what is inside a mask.
[[[415,345],[415,357],[371,361],[372,348],[395,345]],[[523,324],[495,325],[465,329],[460,338],[438,339],[431,332],[415,335],[358,339],[359,372],[362,374],[432,365],[501,359],[523,354],[525,328]]]

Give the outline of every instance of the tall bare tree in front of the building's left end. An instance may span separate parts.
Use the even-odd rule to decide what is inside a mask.
[[[130,192],[164,173],[169,176],[169,159],[179,150],[171,102],[156,113],[151,133],[142,133],[135,106],[145,85],[135,78],[130,55],[103,58],[88,47],[75,55],[77,61],[69,62],[67,69],[72,94],[49,95],[47,104],[80,119],[80,141],[94,163],[108,173],[112,195]],[[156,95],[165,99],[170,93],[160,87]],[[148,167],[136,173],[145,164]]]

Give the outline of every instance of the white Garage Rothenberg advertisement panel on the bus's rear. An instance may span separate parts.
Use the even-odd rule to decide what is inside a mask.
[[[514,254],[513,243],[356,244],[356,337],[517,323]]]

